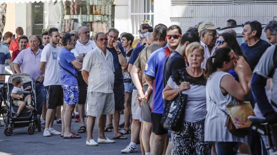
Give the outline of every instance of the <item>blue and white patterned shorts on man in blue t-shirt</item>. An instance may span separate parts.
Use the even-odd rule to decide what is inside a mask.
[[[78,85],[62,85],[64,90],[64,100],[66,105],[76,105],[79,102]]]

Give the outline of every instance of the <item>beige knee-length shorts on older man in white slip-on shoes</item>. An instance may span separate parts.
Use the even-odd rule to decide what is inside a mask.
[[[114,93],[88,92],[87,115],[100,117],[115,112]]]

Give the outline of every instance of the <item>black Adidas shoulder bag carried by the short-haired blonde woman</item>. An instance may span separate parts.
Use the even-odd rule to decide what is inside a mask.
[[[178,82],[174,78],[176,83],[178,84],[185,81],[184,71],[177,70],[176,72],[175,74],[179,76]],[[161,118],[161,124],[165,129],[180,131],[183,128],[187,97],[187,94],[179,92],[173,100],[167,102]]]

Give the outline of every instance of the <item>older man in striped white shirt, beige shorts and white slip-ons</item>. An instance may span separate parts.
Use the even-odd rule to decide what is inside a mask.
[[[97,47],[88,52],[83,61],[82,75],[88,84],[88,137],[87,146],[97,146],[98,143],[114,143],[105,137],[106,115],[115,111],[113,93],[114,65],[113,56],[106,49],[107,36],[100,32],[95,35]],[[93,140],[92,131],[95,119],[98,117],[99,137],[97,143]]]

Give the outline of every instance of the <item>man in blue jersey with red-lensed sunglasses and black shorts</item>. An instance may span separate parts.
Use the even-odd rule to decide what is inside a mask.
[[[152,150],[153,154],[163,154],[161,148],[166,148],[167,130],[161,125],[161,117],[164,111],[164,100],[162,98],[163,90],[163,65],[167,55],[173,52],[181,39],[182,30],[177,25],[172,25],[167,28],[167,46],[157,49],[152,53],[147,60],[144,70],[144,78],[148,85],[153,89],[153,103],[152,103],[152,132],[155,133]]]

